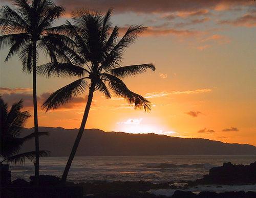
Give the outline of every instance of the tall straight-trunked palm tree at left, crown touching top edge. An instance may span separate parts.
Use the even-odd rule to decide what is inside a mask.
[[[52,54],[58,45],[71,45],[66,36],[51,31],[53,22],[65,11],[51,0],[13,0],[15,9],[3,6],[0,10],[0,48],[10,45],[5,59],[8,61],[14,54],[22,60],[23,71],[33,73],[33,105],[35,132],[35,177],[39,176],[39,141],[36,98],[36,64],[38,52],[42,51],[53,59]],[[54,56],[55,58],[55,56]],[[52,60],[53,61],[53,60]]]

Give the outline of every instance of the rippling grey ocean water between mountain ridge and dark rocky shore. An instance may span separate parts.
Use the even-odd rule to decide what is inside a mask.
[[[40,158],[40,175],[61,177],[68,157]],[[68,180],[79,183],[95,180],[106,181],[150,181],[153,183],[196,180],[208,174],[212,167],[223,162],[250,164],[256,155],[228,156],[104,156],[75,157]],[[12,180],[29,180],[34,174],[33,162],[24,166],[10,167]]]

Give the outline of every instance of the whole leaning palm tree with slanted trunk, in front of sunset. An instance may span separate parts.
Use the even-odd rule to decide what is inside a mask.
[[[62,181],[67,180],[68,172],[75,156],[79,141],[88,118],[94,91],[99,90],[106,98],[111,98],[110,90],[115,95],[125,98],[135,109],[144,108],[149,111],[151,104],[144,97],[130,91],[123,77],[135,76],[147,69],[155,70],[153,64],[129,65],[121,67],[121,59],[125,48],[135,41],[138,34],[145,30],[142,26],[131,26],[119,39],[119,28],[112,29],[110,21],[112,10],[105,16],[92,10],[80,10],[72,13],[73,23],[55,29],[55,33],[66,34],[76,43],[75,51],[66,51],[69,61],[51,62],[38,66],[38,73],[46,76],[78,77],[69,85],[52,93],[42,105],[46,111],[56,109],[72,100],[73,97],[86,91],[89,87],[88,101],[84,110],[80,129],[69,156]]]

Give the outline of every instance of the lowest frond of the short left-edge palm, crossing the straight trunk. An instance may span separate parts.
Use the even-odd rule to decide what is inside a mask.
[[[39,157],[47,157],[50,155],[50,151],[39,151]],[[25,163],[25,159],[29,159],[30,161],[33,161],[36,156],[35,151],[30,151],[26,153],[17,154],[14,156],[11,156],[9,158],[4,159],[2,162],[6,161],[10,164],[18,164],[23,165]]]

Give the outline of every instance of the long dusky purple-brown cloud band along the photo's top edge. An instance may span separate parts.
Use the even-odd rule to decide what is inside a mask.
[[[209,9],[218,11],[228,10],[237,6],[250,6],[251,1],[241,0],[217,0],[217,1],[181,1],[181,0],[74,0],[72,4],[68,0],[58,0],[67,8],[68,11],[81,9],[83,7],[94,8],[95,10],[106,11],[110,7],[115,9],[117,13],[135,12],[135,13],[163,13],[163,12],[188,12],[190,16],[202,15],[207,13]]]

